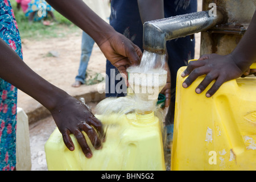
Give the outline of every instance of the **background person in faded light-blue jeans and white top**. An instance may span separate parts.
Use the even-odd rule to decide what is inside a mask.
[[[87,6],[90,7],[98,16],[104,19],[106,22],[109,22],[110,7],[109,0],[84,0]],[[73,87],[79,87],[85,83],[86,69],[92,54],[92,49],[94,45],[94,40],[82,32],[82,44],[81,44],[81,57],[78,74],[75,78],[75,82],[72,84]]]

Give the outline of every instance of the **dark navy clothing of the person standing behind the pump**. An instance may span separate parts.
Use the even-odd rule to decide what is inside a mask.
[[[197,11],[196,0],[164,0],[164,17],[193,13]],[[110,25],[114,29],[129,38],[134,44],[139,46],[143,51],[143,24],[139,15],[137,0],[112,0]],[[171,87],[175,93],[177,70],[187,65],[189,59],[195,55],[195,40],[191,41],[190,36],[167,41],[166,48],[168,51],[168,65],[171,70]],[[106,88],[115,88],[119,80],[111,78],[110,69],[115,67],[107,60]],[[115,69],[115,75],[118,73]],[[114,75],[114,76],[115,76]],[[114,80],[114,81],[113,81]],[[113,87],[114,84],[114,87]],[[110,93],[106,90],[106,97],[121,97],[125,94]],[[172,94],[172,102],[175,101],[175,94]]]

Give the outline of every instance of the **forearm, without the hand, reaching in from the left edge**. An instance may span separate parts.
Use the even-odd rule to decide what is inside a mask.
[[[51,110],[66,93],[50,84],[30,69],[2,39],[0,39],[0,77],[35,98]]]

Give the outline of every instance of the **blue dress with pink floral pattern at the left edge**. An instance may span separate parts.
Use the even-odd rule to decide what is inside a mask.
[[[20,35],[9,0],[0,0],[0,38],[23,59]],[[0,78],[1,171],[13,170],[16,166],[16,104],[17,89]]]

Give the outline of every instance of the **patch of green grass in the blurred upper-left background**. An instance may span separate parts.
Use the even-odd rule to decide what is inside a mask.
[[[78,27],[76,27],[72,22],[59,14],[57,11],[53,11],[56,22],[53,22],[51,26],[44,26],[42,22],[29,23],[28,17],[24,15],[23,11],[16,8],[16,1],[10,0],[10,2],[13,6],[14,15],[16,22],[18,23],[19,32],[22,39],[42,40],[47,38],[57,38],[79,30]],[[46,19],[52,21],[51,18]]]

